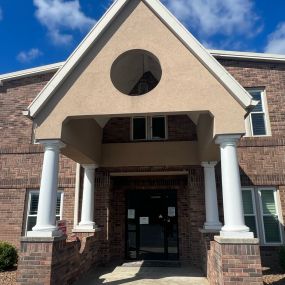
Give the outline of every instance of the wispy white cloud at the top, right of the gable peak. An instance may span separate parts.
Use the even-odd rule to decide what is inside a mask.
[[[204,36],[233,33],[252,36],[258,17],[252,0],[163,0],[174,15],[186,22],[190,30]]]

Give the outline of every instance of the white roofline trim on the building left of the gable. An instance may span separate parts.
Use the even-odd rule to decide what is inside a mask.
[[[0,82],[5,82],[8,80],[12,79],[18,79],[18,78],[23,78],[23,77],[29,77],[31,75],[38,75],[38,74],[44,74],[52,71],[57,71],[64,62],[58,62],[58,63],[53,63],[53,64],[48,64],[48,65],[43,65],[35,68],[29,68],[29,69],[24,69],[16,72],[11,72],[11,73],[5,73],[0,75]]]

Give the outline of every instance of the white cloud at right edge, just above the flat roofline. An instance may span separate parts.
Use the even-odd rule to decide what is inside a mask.
[[[268,36],[265,52],[285,54],[285,22],[280,23]]]

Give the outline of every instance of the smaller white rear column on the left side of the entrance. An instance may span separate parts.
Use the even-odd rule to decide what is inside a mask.
[[[81,207],[81,222],[78,229],[93,230],[94,222],[94,184],[96,165],[82,165],[84,167],[83,197]]]

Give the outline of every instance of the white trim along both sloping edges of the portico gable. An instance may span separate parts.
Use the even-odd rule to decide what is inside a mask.
[[[249,108],[256,105],[248,92],[230,75],[228,71],[205,49],[194,36],[166,9],[159,0],[142,0],[168,28],[182,41],[185,46],[206,66],[206,68],[224,85],[232,96],[244,107]],[[91,45],[100,39],[101,33],[116,18],[123,7],[130,0],[117,0],[103,15],[101,20],[91,29],[84,40],[79,44],[56,75],[43,88],[39,95],[28,107],[29,115],[35,117],[44,104],[54,94],[63,80],[72,72],[74,67],[88,51]]]

